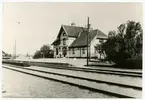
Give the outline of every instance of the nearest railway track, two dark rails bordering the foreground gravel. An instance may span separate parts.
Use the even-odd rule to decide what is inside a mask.
[[[101,92],[101,93],[116,96],[119,98],[141,98],[141,94],[142,94],[142,87],[140,86],[122,84],[122,83],[117,83],[117,82],[109,82],[109,81],[97,80],[97,79],[93,79],[89,77],[48,71],[48,70],[45,70],[46,67],[44,69],[39,70],[35,67],[34,68],[33,67],[20,67],[20,66],[15,66],[15,65],[10,65],[10,66],[3,65],[3,68],[7,68],[10,70],[26,73],[29,75],[33,75],[33,76],[37,76],[37,77],[41,77],[41,78],[45,78],[49,80],[59,81],[59,82],[70,84],[70,85],[75,85],[81,88],[86,88],[92,91]],[[65,68],[63,68],[63,70],[64,69]],[[70,69],[72,70],[72,68]],[[82,71],[82,70],[84,71],[84,69],[81,69],[79,71]],[[73,70],[73,71],[76,71],[76,70]],[[89,70],[89,71],[92,72],[96,70]],[[117,72],[111,72],[111,73],[117,73]],[[109,72],[109,74],[111,73]],[[127,74],[132,75],[134,73],[127,72]],[[140,73],[135,73],[135,74],[138,75]]]

